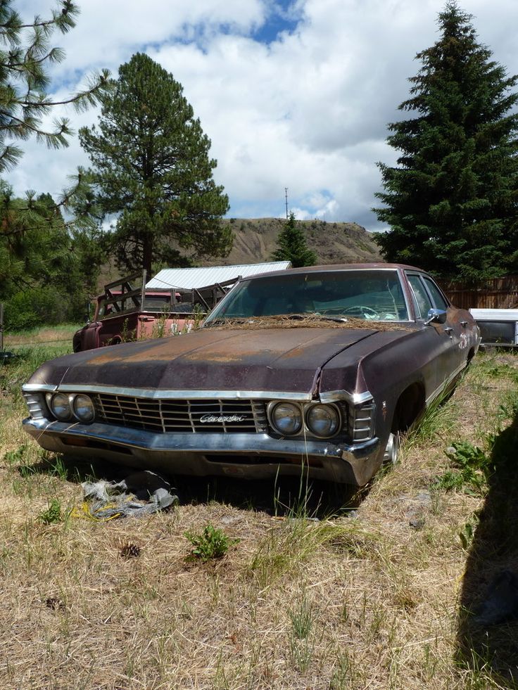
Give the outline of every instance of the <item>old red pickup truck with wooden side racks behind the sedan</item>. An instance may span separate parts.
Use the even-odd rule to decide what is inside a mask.
[[[141,286],[133,288],[141,279]],[[188,333],[209,311],[198,290],[146,290],[146,278],[134,274],[108,283],[96,298],[94,319],[73,336],[74,352],[128,340]]]

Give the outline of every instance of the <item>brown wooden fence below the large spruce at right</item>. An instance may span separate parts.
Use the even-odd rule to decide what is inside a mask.
[[[478,286],[457,281],[440,281],[440,285],[455,307],[518,309],[518,276],[493,278]]]

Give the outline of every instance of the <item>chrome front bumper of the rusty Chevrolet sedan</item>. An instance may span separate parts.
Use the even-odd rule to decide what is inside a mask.
[[[297,475],[363,485],[381,464],[378,438],[355,444],[277,439],[265,433],[152,433],[108,424],[23,420],[46,450],[98,457],[171,474],[234,475],[255,479]]]

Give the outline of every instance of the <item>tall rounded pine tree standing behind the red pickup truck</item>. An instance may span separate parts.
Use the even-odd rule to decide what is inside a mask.
[[[213,180],[216,161],[182,85],[148,56],[121,65],[103,98],[99,130],[80,130],[91,179],[106,214],[118,214],[110,241],[120,269],[189,263],[189,256],[225,256],[229,208]]]

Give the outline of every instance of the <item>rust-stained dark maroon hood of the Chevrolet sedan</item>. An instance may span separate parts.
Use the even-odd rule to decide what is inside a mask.
[[[322,366],[350,347],[361,357],[376,334],[372,328],[204,328],[66,355],[46,362],[28,383],[309,394],[317,392]]]

